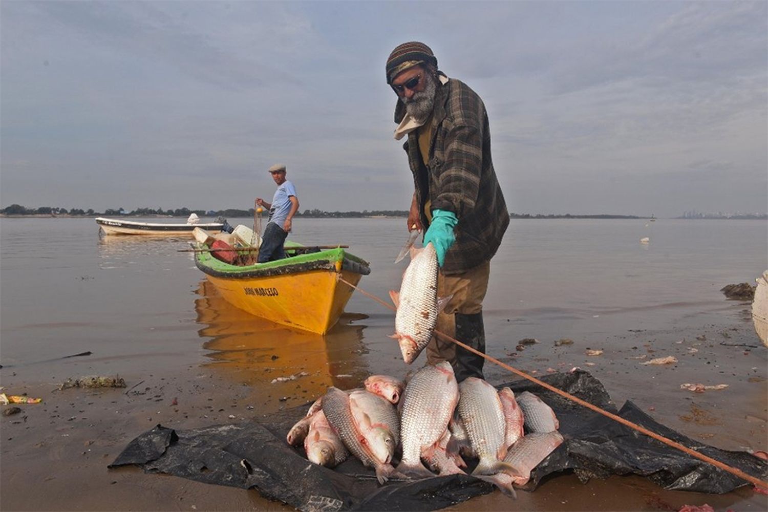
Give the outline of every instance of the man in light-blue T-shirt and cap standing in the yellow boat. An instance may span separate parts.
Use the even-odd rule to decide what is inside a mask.
[[[286,257],[283,243],[290,233],[293,216],[299,210],[296,187],[293,187],[293,183],[286,180],[286,167],[283,164],[275,164],[270,167],[270,174],[277,183],[277,190],[275,190],[272,203],[267,203],[260,197],[256,198],[256,206],[263,206],[270,210],[270,220],[264,228],[261,239],[258,263]]]

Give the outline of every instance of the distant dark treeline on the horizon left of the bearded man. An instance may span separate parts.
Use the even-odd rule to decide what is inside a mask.
[[[19,204],[12,204],[0,210],[0,214],[5,216],[174,216],[174,217],[188,217],[191,213],[197,214],[197,216],[217,217],[252,217],[253,208],[250,210],[237,210],[229,208],[227,210],[190,210],[189,208],[177,208],[176,210],[162,208],[137,208],[130,212],[124,208],[108,208],[103,212],[97,212],[92,208],[88,210],[82,210],[81,208],[72,208],[67,210],[66,208],[60,208],[58,206],[41,206],[39,208],[27,208]],[[264,212],[266,215],[266,212]],[[296,212],[296,216],[302,217],[330,217],[330,218],[355,218],[355,217],[370,217],[370,216],[392,216],[392,217],[407,217],[408,212],[406,210],[362,210],[362,212],[326,212],[323,210],[304,210],[302,212]]]

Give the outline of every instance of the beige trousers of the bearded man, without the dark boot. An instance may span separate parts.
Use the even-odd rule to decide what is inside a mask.
[[[445,306],[445,309],[438,315],[437,325],[435,325],[436,330],[455,339],[455,313],[474,315],[475,313],[482,312],[482,300],[485,299],[485,292],[488,290],[488,276],[490,273],[491,262],[487,261],[476,266],[474,269],[456,276],[438,274],[438,299],[450,295],[453,296]],[[458,341],[461,342],[462,340]],[[455,360],[455,343],[432,336],[429,345],[427,345],[427,362],[431,365],[441,361],[448,361],[453,364],[456,362]]]

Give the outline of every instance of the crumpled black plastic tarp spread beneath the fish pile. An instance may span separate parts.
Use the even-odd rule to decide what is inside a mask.
[[[650,431],[694,448],[747,474],[765,479],[768,463],[742,451],[725,451],[694,441],[657,423],[627,401],[616,411],[598,379],[588,372],[553,374],[541,380]],[[670,490],[722,494],[747,484],[739,477],[670,448],[631,428],[568,401],[528,381],[512,391],[531,391],[554,409],[565,441],[531,473],[533,490],[548,474],[572,470],[582,479],[638,474]],[[504,385],[499,385],[502,388]],[[286,441],[306,407],[281,411],[267,421],[175,431],[161,425],[131,441],[109,467],[138,464],[147,472],[174,474],[208,484],[257,488],[268,498],[300,510],[436,510],[494,490],[468,475],[389,481],[354,457],[334,469],[306,460]]]

